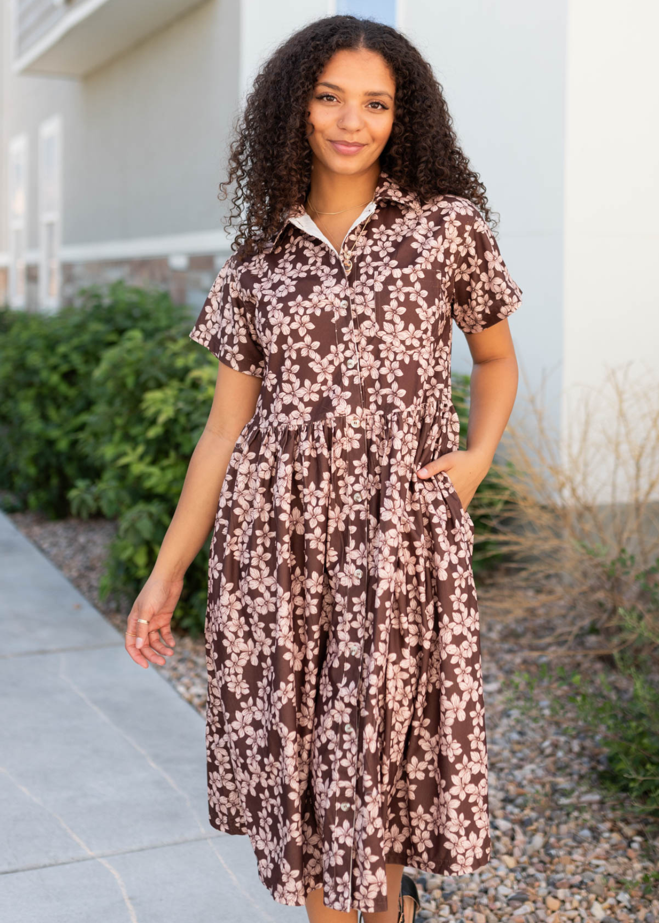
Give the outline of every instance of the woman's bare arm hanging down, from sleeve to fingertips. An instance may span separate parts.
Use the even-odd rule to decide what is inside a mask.
[[[209,418],[187,466],[174,516],[127,618],[126,651],[140,666],[148,667],[149,661],[162,665],[173,653],[170,623],[183,578],[215,523],[235,441],[254,415],[262,380],[219,364]],[[138,618],[149,624],[138,624]]]

